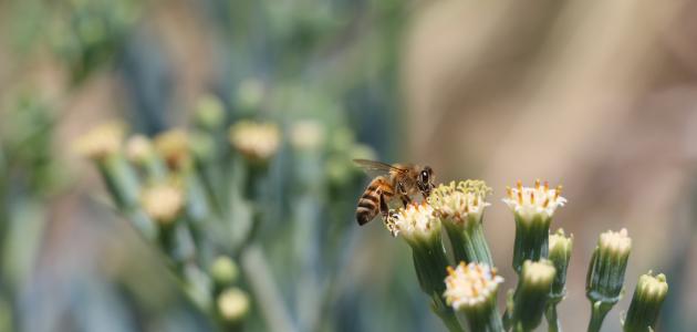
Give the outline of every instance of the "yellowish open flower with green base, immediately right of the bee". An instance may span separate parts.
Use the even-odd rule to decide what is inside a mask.
[[[428,197],[435,215],[440,218],[456,261],[493,264],[483,235],[483,209],[490,204],[485,197],[491,188],[482,180],[466,180],[439,185]]]

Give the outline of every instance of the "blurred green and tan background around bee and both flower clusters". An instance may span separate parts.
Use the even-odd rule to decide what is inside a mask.
[[[445,331],[408,246],[355,224],[368,179],[351,156],[486,180],[504,289],[504,187],[562,184],[552,228],[575,239],[565,329],[587,323],[597,235],[626,227],[627,292],[639,273],[666,273],[659,330],[694,331],[695,15],[688,0],[0,1],[0,329],[214,329],[70,147],[113,118],[148,136],[186,127],[214,98],[228,123],[283,133],[257,241],[284,319],[270,326],[252,301],[250,331]],[[313,159],[293,151],[308,122]],[[620,330],[630,298],[604,330]]]

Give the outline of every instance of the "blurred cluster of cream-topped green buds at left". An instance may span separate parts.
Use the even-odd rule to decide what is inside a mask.
[[[98,167],[118,211],[165,253],[193,302],[225,324],[237,326],[250,301],[237,284],[235,261],[227,256],[214,261],[214,255],[219,250],[239,255],[249,245],[253,228],[242,225],[243,231],[230,237],[226,248],[214,246],[212,231],[206,228],[211,220],[230,220],[230,197],[233,190],[243,189],[233,186],[261,184],[266,167],[256,165],[267,165],[275,155],[281,133],[271,123],[240,121],[226,135],[223,107],[214,97],[204,98],[198,111],[196,126],[189,131],[170,129],[154,139],[134,135],[124,144],[124,125],[108,123],[79,138],[74,147]],[[304,138],[301,145],[314,144],[308,142],[312,137]],[[229,153],[231,149],[239,155]],[[218,160],[220,165],[212,163]],[[253,162],[239,164],[248,169],[242,169],[239,181],[223,168],[237,160]],[[237,218],[245,219],[239,222],[253,225],[259,219],[256,206],[249,206],[252,214]]]

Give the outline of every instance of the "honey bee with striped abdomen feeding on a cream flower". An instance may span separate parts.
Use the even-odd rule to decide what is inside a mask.
[[[398,196],[406,207],[412,196],[422,194],[424,199],[430,195],[434,185],[434,172],[430,167],[409,164],[385,164],[366,159],[354,159],[354,163],[367,173],[377,173],[371,180],[356,207],[356,221],[363,226],[382,214],[383,219],[389,216],[389,201]]]

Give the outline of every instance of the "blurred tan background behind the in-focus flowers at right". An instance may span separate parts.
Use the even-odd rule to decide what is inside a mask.
[[[569,199],[552,227],[575,237],[575,300],[560,307],[578,320],[570,331],[584,328],[584,271],[607,229],[633,238],[627,290],[632,276],[686,264],[685,284],[672,288],[697,299],[697,3],[434,1],[417,11],[404,60],[413,155],[439,180],[493,188],[496,260],[510,261],[514,235],[504,187],[549,179]],[[697,312],[688,302],[682,310]]]

